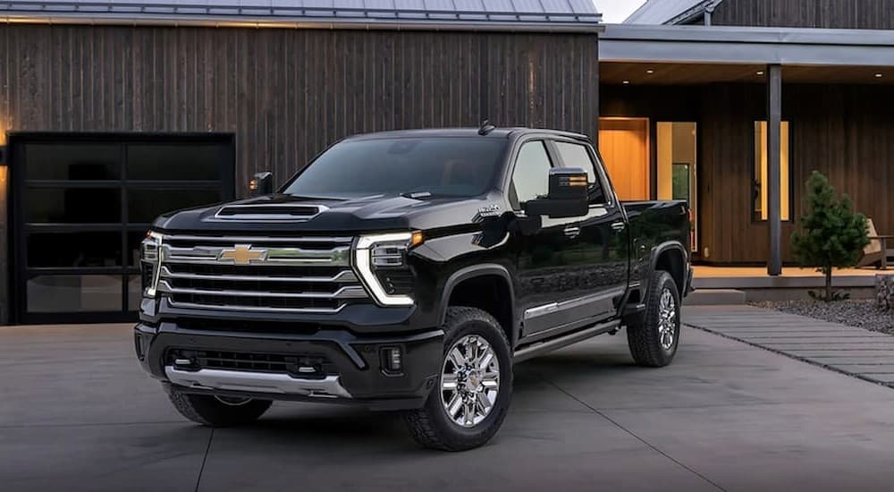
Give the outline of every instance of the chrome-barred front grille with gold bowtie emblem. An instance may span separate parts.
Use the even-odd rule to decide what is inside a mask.
[[[157,292],[175,307],[333,313],[369,301],[350,237],[164,236]]]

